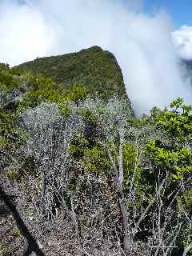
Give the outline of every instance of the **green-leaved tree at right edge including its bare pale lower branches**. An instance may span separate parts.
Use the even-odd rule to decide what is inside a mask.
[[[186,106],[178,98],[168,109],[152,110],[151,119],[167,138],[166,142],[156,140],[146,147],[154,184],[165,181],[161,194],[158,194],[158,212],[154,214],[158,219],[154,221],[158,234],[155,254],[158,255],[161,246],[168,246],[165,254],[171,250],[177,254],[179,248],[171,249],[169,246],[181,247],[191,238],[187,232],[191,226],[191,204],[187,194],[190,194],[192,178],[192,106]]]

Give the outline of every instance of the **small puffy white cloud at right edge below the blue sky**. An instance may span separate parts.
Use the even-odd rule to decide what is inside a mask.
[[[182,26],[172,33],[178,56],[185,60],[192,59],[192,26]]]

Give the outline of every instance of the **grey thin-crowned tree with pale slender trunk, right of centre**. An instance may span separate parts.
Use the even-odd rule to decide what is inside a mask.
[[[150,138],[153,138],[154,127],[136,128],[131,126],[131,110],[126,101],[118,98],[112,98],[107,103],[98,99],[87,100],[84,102],[83,107],[89,109],[98,121],[98,130],[100,130],[99,142],[106,149],[106,156],[110,159],[110,164],[114,170],[114,182],[122,214],[123,250],[129,254],[133,247],[134,235],[138,230],[138,226],[152,204],[150,202],[146,209],[140,212],[139,218],[135,222],[131,217],[127,202],[129,198],[132,200],[135,195],[138,182],[136,173],[142,157],[143,146]],[[132,170],[129,170],[125,164],[127,143],[133,145],[132,149],[135,153],[134,164],[131,166]],[[129,174],[127,175],[128,172]],[[127,184],[129,184],[128,189]]]

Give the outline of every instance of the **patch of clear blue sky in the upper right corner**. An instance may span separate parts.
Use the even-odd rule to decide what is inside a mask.
[[[173,18],[175,26],[192,26],[192,0],[145,0],[144,8],[153,12],[163,8]]]

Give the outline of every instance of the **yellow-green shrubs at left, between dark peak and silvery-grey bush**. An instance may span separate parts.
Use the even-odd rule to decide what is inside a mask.
[[[77,84],[66,89],[41,74],[18,68],[8,69],[6,65],[2,65],[0,93],[0,147],[5,148],[12,142],[25,140],[25,133],[18,129],[18,121],[26,108],[38,106],[41,102],[58,102],[64,114],[67,109],[70,110],[71,101],[82,101],[89,91]]]

